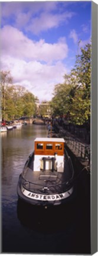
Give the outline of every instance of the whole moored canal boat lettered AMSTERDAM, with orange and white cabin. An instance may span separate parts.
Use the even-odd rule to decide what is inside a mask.
[[[19,175],[18,198],[38,206],[56,206],[73,195],[74,169],[63,138],[37,137]]]

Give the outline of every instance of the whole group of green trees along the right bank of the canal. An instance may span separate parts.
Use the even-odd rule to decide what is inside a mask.
[[[90,120],[91,88],[91,44],[81,48],[76,56],[76,64],[69,75],[64,75],[64,84],[55,85],[51,100],[52,113],[68,114],[70,122],[83,124]]]

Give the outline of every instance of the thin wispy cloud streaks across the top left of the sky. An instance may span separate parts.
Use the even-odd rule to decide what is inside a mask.
[[[67,22],[75,12],[61,10],[57,1],[6,2],[2,4],[2,24],[38,34]],[[56,11],[56,14],[55,14]]]

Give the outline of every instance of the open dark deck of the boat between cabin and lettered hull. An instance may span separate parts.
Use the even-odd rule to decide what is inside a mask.
[[[43,190],[47,188],[51,194],[61,193],[65,191],[65,185],[68,188],[69,181],[73,177],[73,168],[70,168],[70,162],[67,160],[64,164],[64,172],[57,171],[32,171],[30,167],[27,167],[22,177],[24,178],[25,188],[33,191],[34,193],[43,193]],[[27,182],[26,182],[27,181]]]

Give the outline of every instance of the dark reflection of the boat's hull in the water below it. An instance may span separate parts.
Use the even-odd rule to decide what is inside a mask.
[[[17,216],[22,225],[36,232],[56,233],[73,229],[79,214],[73,203],[60,206],[33,206],[18,199]]]

